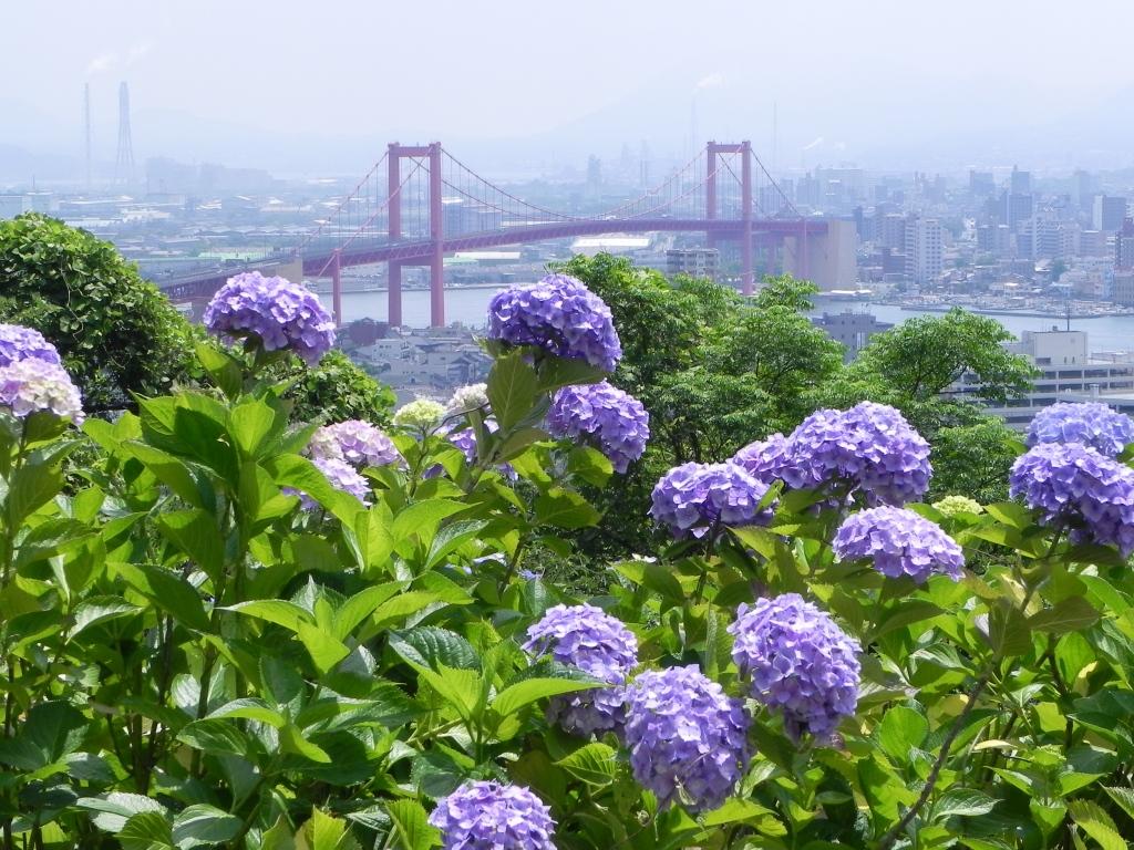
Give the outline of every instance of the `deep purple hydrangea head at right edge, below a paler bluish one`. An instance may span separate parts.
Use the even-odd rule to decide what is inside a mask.
[[[1082,443],[1040,443],[1013,464],[1013,498],[1080,542],[1134,552],[1134,469]]]

